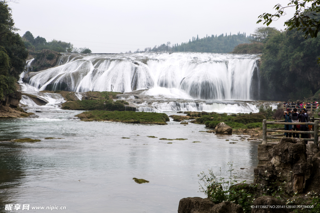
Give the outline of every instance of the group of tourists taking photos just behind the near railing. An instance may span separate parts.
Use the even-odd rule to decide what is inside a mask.
[[[299,110],[299,111],[298,111]],[[297,109],[294,108],[293,110],[291,109],[286,109],[284,111],[284,122],[287,123],[308,123],[310,122],[310,116],[308,115],[308,111],[306,108],[303,109]],[[312,125],[284,125],[285,130],[293,130],[293,131],[311,131]],[[286,137],[293,137],[294,138],[299,138],[299,133],[285,133]],[[303,134],[301,133],[301,138],[311,138],[311,134]],[[308,143],[308,141],[304,141],[305,144]]]

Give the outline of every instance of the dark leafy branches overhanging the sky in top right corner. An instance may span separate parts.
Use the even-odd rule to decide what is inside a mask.
[[[311,6],[307,6],[307,3],[311,3]],[[273,20],[279,19],[285,15],[284,10],[288,7],[295,7],[296,12],[293,17],[286,22],[284,26],[287,26],[288,30],[297,28],[305,32],[305,38],[310,34],[311,38],[317,37],[320,29],[320,19],[317,18],[316,13],[320,13],[320,0],[290,0],[290,3],[283,7],[281,4],[276,4],[273,8],[276,8],[275,14],[263,13],[258,18],[257,24],[264,19],[263,24],[271,24]]]

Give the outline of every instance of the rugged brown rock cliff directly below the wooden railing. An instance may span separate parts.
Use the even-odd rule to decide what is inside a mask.
[[[266,186],[272,180],[285,183],[286,192],[293,194],[314,190],[320,192],[319,149],[303,139],[282,138],[278,144],[259,144],[258,168],[254,169],[254,184]]]

